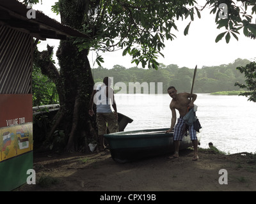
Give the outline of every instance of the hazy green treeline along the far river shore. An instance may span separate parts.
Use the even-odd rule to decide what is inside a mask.
[[[239,71],[237,66],[245,66],[250,61],[246,59],[236,59],[230,64],[221,64],[220,66],[204,66],[196,72],[194,92],[209,93],[217,91],[240,91],[239,87],[235,87],[237,81],[244,82],[245,78]],[[168,66],[159,64],[158,70],[141,69],[132,67],[129,69],[123,66],[115,65],[113,69],[106,69],[99,66],[92,69],[95,82],[102,82],[106,76],[113,77],[114,85],[117,82],[124,82],[129,87],[129,82],[163,82],[163,93],[166,92],[170,85],[174,85],[180,92],[190,92],[193,80],[194,69],[186,67],[179,68],[176,64]],[[155,83],[155,92],[157,93],[157,84]],[[116,92],[119,91],[118,86],[114,87]],[[128,90],[122,90],[127,93]],[[143,92],[141,90],[141,92]]]

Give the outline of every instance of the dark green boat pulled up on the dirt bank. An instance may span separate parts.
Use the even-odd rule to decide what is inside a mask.
[[[118,163],[127,163],[152,156],[174,152],[173,132],[165,133],[167,129],[142,129],[124,131],[104,135],[108,140],[111,157]],[[198,142],[201,131],[196,135]],[[180,150],[193,147],[190,136],[184,136],[180,142]]]

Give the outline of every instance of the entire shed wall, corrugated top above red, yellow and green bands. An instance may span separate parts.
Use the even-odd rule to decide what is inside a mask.
[[[0,24],[0,191],[24,184],[33,168],[33,37]]]

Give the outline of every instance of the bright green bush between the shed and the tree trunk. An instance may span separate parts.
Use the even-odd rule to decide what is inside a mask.
[[[33,106],[59,103],[58,93],[54,83],[39,68],[33,66],[32,72]]]

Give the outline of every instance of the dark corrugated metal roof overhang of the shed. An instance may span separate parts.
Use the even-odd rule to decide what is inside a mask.
[[[0,1],[0,23],[21,29],[27,29],[35,38],[64,39],[66,36],[90,38],[90,36],[73,29],[68,25],[47,17],[41,11],[36,11],[36,18],[27,18],[26,5],[17,0]]]

